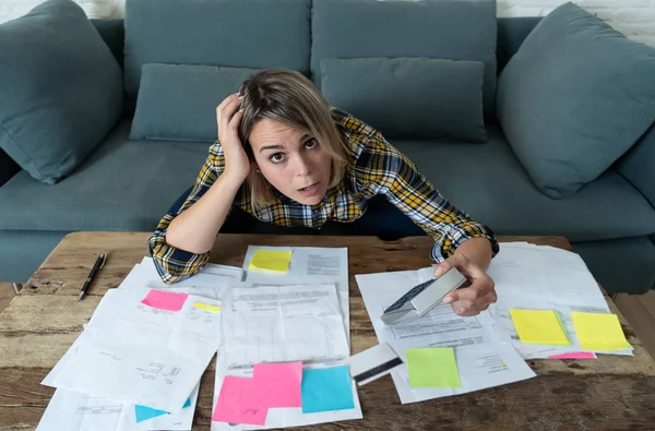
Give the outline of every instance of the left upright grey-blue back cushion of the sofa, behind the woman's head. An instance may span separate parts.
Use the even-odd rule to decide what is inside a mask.
[[[309,74],[311,0],[128,0],[126,89],[146,63],[287,68]]]

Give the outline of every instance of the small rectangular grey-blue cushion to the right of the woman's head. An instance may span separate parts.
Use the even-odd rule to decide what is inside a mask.
[[[484,76],[479,61],[321,60],[323,95],[389,137],[484,142]]]

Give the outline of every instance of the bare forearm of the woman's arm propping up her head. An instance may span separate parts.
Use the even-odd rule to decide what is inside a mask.
[[[198,202],[172,219],[166,242],[195,254],[212,250],[242,182],[227,175],[218,177]]]

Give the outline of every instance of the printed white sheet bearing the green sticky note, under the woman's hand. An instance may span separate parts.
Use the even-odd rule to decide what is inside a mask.
[[[378,339],[389,343],[405,362],[391,372],[401,403],[465,394],[534,378],[534,371],[510,344],[496,340],[477,316],[458,316],[450,304],[439,304],[425,316],[406,324],[385,325],[382,322],[383,311],[412,287],[431,277],[432,271],[356,275]],[[453,347],[462,387],[409,387],[405,349],[419,347]]]

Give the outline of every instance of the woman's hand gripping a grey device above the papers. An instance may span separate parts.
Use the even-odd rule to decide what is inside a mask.
[[[464,254],[453,254],[434,268],[434,276],[439,278],[452,267],[456,267],[464,275],[471,286],[453,290],[443,299],[450,303],[458,315],[477,315],[487,310],[489,304],[496,302],[496,285],[487,273]]]

